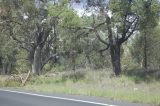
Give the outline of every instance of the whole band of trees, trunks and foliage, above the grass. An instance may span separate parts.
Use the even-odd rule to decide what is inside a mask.
[[[129,50],[136,60],[133,62],[148,61],[152,68],[159,66],[158,0],[89,3],[88,8],[96,10],[91,16],[82,17],[70,3],[69,0],[0,1],[2,73],[15,72],[21,67],[17,64],[26,63],[26,70],[37,75],[56,64],[73,70],[109,67],[119,76],[123,71],[123,53],[128,50],[123,46],[127,42],[131,42]],[[20,63],[20,58],[25,61]]]

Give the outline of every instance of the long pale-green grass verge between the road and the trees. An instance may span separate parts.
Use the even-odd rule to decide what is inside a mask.
[[[160,81],[149,78],[152,80],[129,75],[114,77],[110,71],[87,69],[76,73],[61,72],[53,76],[32,77],[23,89],[98,96],[159,106]],[[1,80],[0,86],[3,85],[4,78]]]

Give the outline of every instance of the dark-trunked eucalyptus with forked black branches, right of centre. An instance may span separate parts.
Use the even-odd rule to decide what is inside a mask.
[[[104,14],[108,35],[108,42],[105,43],[110,48],[111,62],[116,75],[121,74],[121,46],[137,28],[139,14],[136,3],[132,0],[111,0],[109,10],[112,11],[113,16]]]

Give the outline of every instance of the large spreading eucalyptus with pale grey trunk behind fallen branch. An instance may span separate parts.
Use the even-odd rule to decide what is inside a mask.
[[[1,15],[5,21],[3,25],[12,39],[28,52],[34,74],[41,74],[44,65],[56,56],[53,54],[55,25],[60,14],[68,8],[66,3],[62,1],[55,5],[45,0],[2,0],[5,10]],[[53,5],[57,10],[54,15],[50,11]]]

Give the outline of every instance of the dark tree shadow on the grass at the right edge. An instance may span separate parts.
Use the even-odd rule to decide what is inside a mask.
[[[160,81],[160,70],[143,71],[143,69],[132,69],[128,70],[125,75],[131,77],[135,83]]]

